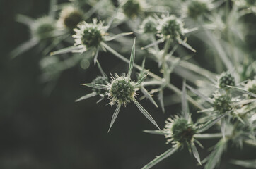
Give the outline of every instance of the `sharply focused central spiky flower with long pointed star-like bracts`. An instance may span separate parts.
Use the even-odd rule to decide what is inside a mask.
[[[156,124],[156,121],[153,120],[151,115],[146,111],[144,107],[139,104],[138,101],[136,101],[136,91],[139,89],[139,86],[141,82],[146,78],[146,75],[141,78],[138,82],[133,82],[131,80],[131,74],[132,74],[132,68],[134,66],[134,58],[135,58],[135,39],[134,39],[134,44],[132,46],[132,53],[129,61],[129,70],[126,75],[118,76],[115,75],[115,77],[112,77],[112,81],[108,83],[107,85],[104,84],[83,84],[88,87],[93,87],[95,89],[103,89],[106,91],[107,95],[109,96],[110,99],[110,105],[117,105],[117,108],[115,109],[114,114],[112,115],[112,120],[110,123],[110,128],[108,132],[110,131],[112,125],[115,123],[115,119],[117,118],[118,113],[120,112],[121,106],[126,106],[129,104],[131,101],[134,102],[134,104],[139,108],[139,111],[143,115],[148,118],[153,125],[158,125]],[[158,127],[159,128],[159,127]]]

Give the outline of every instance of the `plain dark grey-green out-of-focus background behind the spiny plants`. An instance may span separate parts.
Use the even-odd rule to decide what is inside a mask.
[[[14,59],[9,57],[16,46],[30,37],[28,28],[16,22],[16,15],[37,18],[47,13],[48,7],[47,0],[0,0],[0,168],[141,168],[170,145],[165,144],[164,137],[142,132],[155,128],[134,104],[121,109],[115,125],[107,134],[115,106],[106,106],[107,100],[95,104],[99,99],[96,97],[74,102],[91,92],[79,84],[91,82],[100,74],[98,68],[91,64],[86,70],[79,65],[64,70],[52,91],[45,94],[45,84],[39,78],[42,56],[37,54],[37,49]],[[200,45],[193,44],[199,54],[203,53],[199,50]],[[99,61],[108,63],[102,65],[106,73],[127,72],[127,64],[110,54],[103,55]],[[182,82],[175,75],[172,80],[179,86]],[[141,105],[149,110],[161,128],[168,115],[180,111],[180,104],[167,106],[169,113],[166,114],[149,101],[143,100]],[[216,142],[202,144],[206,148],[199,149],[203,158],[208,154],[207,149]],[[227,160],[256,156],[253,149],[244,148],[243,151],[234,149],[224,154],[219,168],[239,169],[228,164]],[[196,166],[197,161],[184,149],[154,168],[202,168]]]

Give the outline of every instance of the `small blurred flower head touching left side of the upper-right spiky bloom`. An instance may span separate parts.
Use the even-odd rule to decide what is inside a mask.
[[[149,16],[142,22],[141,30],[144,33],[156,33],[157,25],[156,19]]]

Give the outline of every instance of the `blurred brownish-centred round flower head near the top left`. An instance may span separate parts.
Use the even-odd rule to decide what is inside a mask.
[[[83,20],[83,12],[74,6],[63,8],[58,23],[61,27],[69,30],[74,29]]]

